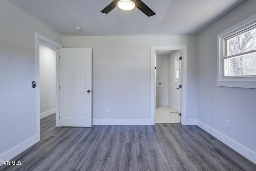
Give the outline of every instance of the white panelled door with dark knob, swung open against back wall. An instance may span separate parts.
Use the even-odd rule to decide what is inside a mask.
[[[60,126],[92,126],[92,49],[60,49]]]

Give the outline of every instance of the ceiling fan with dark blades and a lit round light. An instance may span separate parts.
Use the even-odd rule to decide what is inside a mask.
[[[108,6],[106,6],[100,12],[108,14],[111,10],[116,8],[116,6],[118,6],[122,10],[132,10],[136,6],[139,10],[141,10],[144,14],[146,14],[149,17],[154,16],[156,14],[141,0],[113,0],[110,4],[108,4]]]

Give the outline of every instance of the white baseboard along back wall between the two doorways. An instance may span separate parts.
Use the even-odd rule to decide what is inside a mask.
[[[92,125],[154,125],[154,119],[93,119]]]

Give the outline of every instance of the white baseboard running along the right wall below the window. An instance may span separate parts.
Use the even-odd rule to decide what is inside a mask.
[[[256,164],[256,153],[254,151],[251,151],[250,149],[244,147],[240,143],[234,141],[233,139],[230,139],[226,135],[220,133],[219,131],[210,127],[209,125],[206,125],[200,120],[197,120],[197,125]]]

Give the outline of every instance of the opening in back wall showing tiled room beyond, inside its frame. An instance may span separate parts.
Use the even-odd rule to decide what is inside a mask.
[[[181,50],[156,50],[155,123],[180,123]]]

